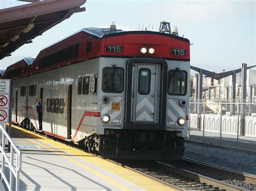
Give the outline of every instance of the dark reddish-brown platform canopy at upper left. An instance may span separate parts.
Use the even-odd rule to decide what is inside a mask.
[[[28,0],[33,2],[0,9],[0,60],[51,27],[69,18],[86,0]]]

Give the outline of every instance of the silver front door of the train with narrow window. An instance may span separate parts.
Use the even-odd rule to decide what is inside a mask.
[[[132,121],[158,123],[160,65],[136,63],[133,73]]]

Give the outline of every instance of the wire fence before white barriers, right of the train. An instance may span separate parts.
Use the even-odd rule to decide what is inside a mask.
[[[256,103],[190,102],[189,123],[188,139],[225,146],[229,139],[235,147],[249,149],[244,142],[256,138]]]

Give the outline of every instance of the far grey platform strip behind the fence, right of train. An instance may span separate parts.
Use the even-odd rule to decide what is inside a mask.
[[[204,134],[204,135],[203,135]],[[194,140],[197,142],[206,142],[215,145],[223,145],[227,147],[240,148],[243,150],[250,150],[256,152],[256,138],[255,137],[245,137],[237,135],[228,135],[214,133],[214,132],[204,132],[198,129],[190,129],[188,131],[188,140]]]

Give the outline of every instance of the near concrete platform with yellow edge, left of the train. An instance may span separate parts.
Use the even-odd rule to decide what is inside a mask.
[[[11,137],[22,151],[19,190],[172,190],[96,155],[18,126]]]

